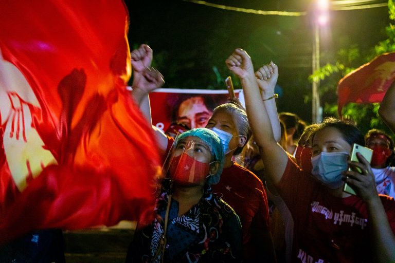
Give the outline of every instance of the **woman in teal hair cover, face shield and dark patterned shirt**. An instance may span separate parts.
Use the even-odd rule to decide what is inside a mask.
[[[223,163],[221,141],[211,130],[177,137],[164,165],[170,187],[157,199],[154,222],[136,231],[127,262],[241,261],[239,218],[211,191]]]

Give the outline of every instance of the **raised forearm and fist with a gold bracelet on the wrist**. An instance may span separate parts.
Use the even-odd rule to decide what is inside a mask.
[[[278,119],[277,106],[275,101],[274,88],[276,87],[278,79],[278,67],[271,61],[269,64],[264,65],[255,72],[258,86],[261,90],[261,98],[267,115],[272,124],[274,139],[277,142],[281,141],[281,127]]]

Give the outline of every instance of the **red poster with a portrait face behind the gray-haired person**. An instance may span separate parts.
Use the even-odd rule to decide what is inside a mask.
[[[235,90],[243,107],[242,89]],[[160,88],[150,93],[152,124],[166,132],[171,123],[205,127],[212,111],[229,102],[227,90]]]

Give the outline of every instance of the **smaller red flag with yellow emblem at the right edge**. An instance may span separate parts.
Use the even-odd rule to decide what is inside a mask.
[[[342,108],[349,102],[381,102],[394,79],[395,53],[380,55],[348,73],[337,85],[339,116],[342,117]]]

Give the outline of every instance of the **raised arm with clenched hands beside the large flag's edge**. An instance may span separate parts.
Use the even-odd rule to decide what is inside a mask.
[[[151,124],[158,147],[161,151],[166,151],[168,139],[158,128],[152,125],[151,105],[149,92],[160,88],[165,81],[162,74],[151,68],[152,49],[148,45],[141,45],[138,49],[131,52],[131,63],[133,67],[132,96],[139,106],[142,114]]]

